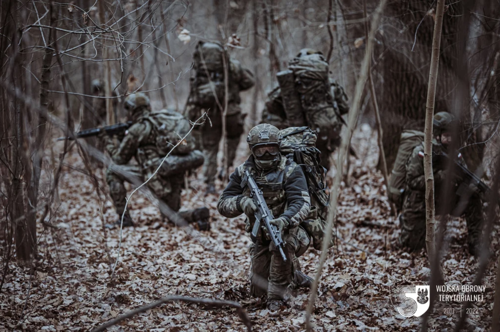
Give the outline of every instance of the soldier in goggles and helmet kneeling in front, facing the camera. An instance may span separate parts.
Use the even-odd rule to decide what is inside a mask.
[[[309,213],[310,197],[301,167],[280,155],[280,141],[281,135],[276,127],[270,124],[253,127],[246,137],[251,155],[231,174],[217,204],[218,212],[224,217],[233,218],[244,213],[245,231],[249,233],[255,222],[256,206],[249,197],[243,175],[246,170],[263,192],[275,218],[270,223],[281,232],[287,258],[284,262],[265,232],[252,239],[250,293],[253,297],[260,297],[267,291],[270,311],[277,311],[285,304],[291,289],[310,287],[311,283],[311,279],[301,273],[297,259],[310,243],[300,226]]]

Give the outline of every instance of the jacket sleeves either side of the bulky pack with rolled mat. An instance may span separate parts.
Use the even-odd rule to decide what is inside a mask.
[[[336,103],[338,112],[341,115],[346,114],[349,111],[349,104],[343,87],[332,78],[330,78],[329,81],[330,93]],[[287,128],[288,125],[286,125],[286,114],[283,109],[280,92],[278,86],[268,93],[264,109],[262,110],[261,123],[270,123],[278,129],[284,129]]]

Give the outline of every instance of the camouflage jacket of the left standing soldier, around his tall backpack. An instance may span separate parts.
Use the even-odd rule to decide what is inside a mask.
[[[228,80],[228,105],[227,105],[227,115],[235,114],[241,112],[239,108],[239,103],[241,102],[241,97],[239,96],[240,91],[247,90],[255,84],[253,74],[250,70],[244,68],[238,60],[229,59],[229,80]],[[201,75],[201,77],[200,77]],[[213,76],[213,75],[212,75]],[[210,78],[212,81],[218,81],[220,83],[220,88],[223,89],[223,75],[217,75],[216,77]],[[195,121],[201,116],[205,111],[204,108],[196,105],[194,100],[196,100],[197,84],[204,84],[208,81],[205,72],[198,72],[195,68],[191,69],[191,78],[189,86],[189,97],[186,102],[186,107],[184,109],[184,115],[190,120]],[[223,98],[219,98],[219,102],[223,105]],[[217,106],[217,105],[215,105]],[[215,107],[213,111],[222,111],[219,107]]]

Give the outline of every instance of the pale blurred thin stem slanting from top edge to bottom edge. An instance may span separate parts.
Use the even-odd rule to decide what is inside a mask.
[[[371,50],[373,47],[373,38],[375,35],[375,31],[378,28],[378,24],[380,22],[380,13],[382,12],[382,9],[385,6],[386,0],[381,0],[380,4],[378,5],[374,15],[373,15],[373,20],[371,22],[371,29],[368,35],[368,40],[366,41],[366,53],[364,54],[364,59],[361,64],[361,71],[359,74],[359,79],[357,80],[356,83],[356,88],[355,88],[355,94],[354,94],[354,99],[352,102],[352,108],[350,109],[349,112],[349,118],[348,118],[348,124],[347,124],[347,130],[345,131],[342,141],[340,144],[340,149],[338,151],[338,161],[337,165],[339,167],[339,172],[338,176],[335,177],[335,182],[333,184],[332,188],[332,194],[330,196],[330,205],[329,205],[329,213],[328,213],[328,225],[326,226],[326,234],[324,234],[324,239],[323,239],[323,246],[322,246],[322,252],[321,252],[321,257],[319,258],[319,264],[317,267],[316,275],[314,277],[314,282],[312,283],[311,291],[310,291],[310,296],[309,296],[309,302],[307,304],[307,312],[305,315],[305,322],[306,322],[306,329],[307,331],[311,331],[311,313],[312,313],[312,308],[314,307],[314,302],[316,300],[316,293],[317,293],[317,288],[319,284],[319,278],[321,277],[321,272],[324,266],[324,262],[326,260],[326,254],[328,252],[328,243],[331,240],[331,232],[332,232],[332,226],[333,226],[333,219],[335,217],[335,210],[336,210],[336,205],[337,205],[337,197],[338,197],[338,192],[339,192],[339,187],[340,187],[340,180],[341,180],[341,174],[342,174],[342,167],[343,167],[343,161],[345,159],[345,156],[347,155],[347,149],[350,143],[350,138],[352,136],[352,132],[354,129],[354,126],[357,122],[357,115],[359,113],[359,106],[361,102],[361,96],[363,93],[364,89],[364,84],[366,82],[366,77],[368,74],[369,66],[369,58],[371,56]]]

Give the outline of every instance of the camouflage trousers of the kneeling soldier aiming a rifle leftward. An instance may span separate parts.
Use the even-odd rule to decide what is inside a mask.
[[[109,196],[113,201],[116,213],[121,215],[125,208],[126,189],[124,182],[139,185],[149,176],[143,174],[139,165],[113,165],[106,170],[106,182],[109,186]],[[153,176],[146,186],[156,195],[156,197],[166,203],[173,211],[180,209],[180,191],[184,178],[182,176],[160,177]]]

